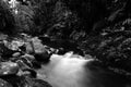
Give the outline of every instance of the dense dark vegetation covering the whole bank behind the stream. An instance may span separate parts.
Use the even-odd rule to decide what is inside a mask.
[[[1,33],[25,33],[41,40],[46,35],[56,42],[50,47],[76,53],[82,50],[85,57],[98,59],[114,72],[131,75],[130,0],[17,1],[17,13],[0,1]],[[64,46],[67,42],[72,49]]]

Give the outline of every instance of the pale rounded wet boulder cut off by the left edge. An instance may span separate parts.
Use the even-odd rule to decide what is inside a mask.
[[[0,76],[15,75],[19,72],[19,65],[13,62],[0,63]]]

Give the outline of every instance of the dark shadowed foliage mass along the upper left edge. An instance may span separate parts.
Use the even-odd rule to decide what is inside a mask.
[[[0,32],[12,34],[15,28],[14,16],[8,3],[0,1]]]

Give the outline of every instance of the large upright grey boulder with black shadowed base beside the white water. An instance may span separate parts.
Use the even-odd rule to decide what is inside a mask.
[[[34,54],[35,59],[40,62],[47,62],[50,58],[50,53],[37,37],[26,44],[26,52]]]

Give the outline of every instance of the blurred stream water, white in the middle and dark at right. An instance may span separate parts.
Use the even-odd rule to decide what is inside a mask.
[[[39,70],[40,78],[48,80],[53,87],[131,87],[124,77],[100,67],[92,60],[76,57],[57,55]]]

